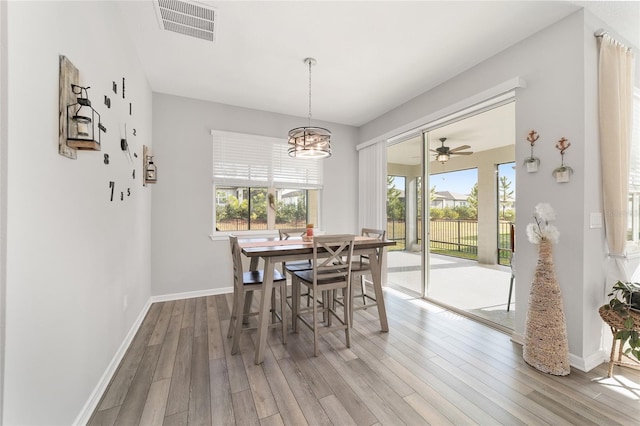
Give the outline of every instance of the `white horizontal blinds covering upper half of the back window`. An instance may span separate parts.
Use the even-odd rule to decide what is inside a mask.
[[[322,162],[291,158],[283,139],[212,130],[216,186],[322,188]]]

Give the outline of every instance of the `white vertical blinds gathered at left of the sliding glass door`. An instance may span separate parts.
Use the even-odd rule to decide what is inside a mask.
[[[358,223],[360,228],[387,229],[387,144],[359,150]]]

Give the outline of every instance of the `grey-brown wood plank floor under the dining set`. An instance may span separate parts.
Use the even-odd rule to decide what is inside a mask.
[[[606,364],[569,376],[538,372],[508,336],[386,291],[389,333],[375,308],[344,333],[306,327],[282,345],[270,330],[262,365],[255,333],[240,354],[226,338],[230,295],[153,304],[90,425],[632,425],[640,372]]]

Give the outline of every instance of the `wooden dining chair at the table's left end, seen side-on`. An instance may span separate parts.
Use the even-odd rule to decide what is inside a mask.
[[[231,318],[229,320],[228,338],[233,338],[231,343],[231,354],[235,355],[240,346],[240,334],[242,331],[255,330],[256,327],[243,327],[243,323],[248,324],[249,317],[256,316],[259,312],[250,310],[247,306],[245,309],[245,296],[248,292],[262,290],[264,280],[264,270],[244,272],[242,267],[242,253],[238,244],[238,237],[229,236],[231,245],[231,257],[233,259],[233,307],[231,309]],[[276,312],[276,290],[280,290],[280,314]],[[286,321],[286,296],[287,296],[287,280],[277,269],[273,270],[273,290],[271,292],[271,327],[282,327],[282,343],[287,343],[287,321]],[[265,295],[266,297],[266,295]],[[276,322],[276,318],[279,319]]]

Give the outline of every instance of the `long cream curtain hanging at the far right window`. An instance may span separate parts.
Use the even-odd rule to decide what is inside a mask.
[[[608,284],[628,281],[626,262],[629,147],[633,107],[633,52],[609,35],[600,38],[598,96]]]

